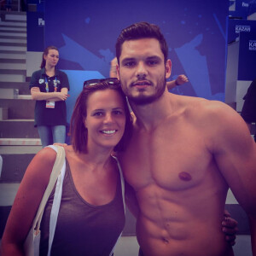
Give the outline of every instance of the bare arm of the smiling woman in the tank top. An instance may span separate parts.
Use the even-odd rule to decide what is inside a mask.
[[[55,157],[54,149],[44,148],[27,167],[3,232],[1,255],[24,255],[23,244],[49,183]]]

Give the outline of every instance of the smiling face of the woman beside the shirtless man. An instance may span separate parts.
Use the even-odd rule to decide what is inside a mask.
[[[116,90],[97,90],[87,100],[84,125],[88,130],[88,148],[113,148],[125,131],[125,106]]]

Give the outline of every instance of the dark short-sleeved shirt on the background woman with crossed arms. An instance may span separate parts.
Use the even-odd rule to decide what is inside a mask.
[[[61,70],[55,70],[55,76],[49,77],[42,68],[32,73],[29,88],[38,87],[41,92],[46,92],[46,84],[48,82],[49,92],[61,91],[61,88],[69,90],[67,74]],[[37,125],[66,125],[67,109],[66,102],[55,102],[55,108],[46,108],[46,101],[37,101],[35,106],[35,126]]]

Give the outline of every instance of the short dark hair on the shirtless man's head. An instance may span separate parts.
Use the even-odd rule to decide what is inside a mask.
[[[160,49],[165,56],[165,62],[168,59],[168,45],[163,34],[160,32],[160,27],[148,22],[137,22],[124,28],[119,34],[115,44],[116,57],[119,62],[119,57],[122,51],[122,45],[125,41],[137,40],[142,38],[155,38],[160,43]]]

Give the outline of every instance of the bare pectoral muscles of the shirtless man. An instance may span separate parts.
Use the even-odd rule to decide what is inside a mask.
[[[155,183],[163,189],[188,189],[214,168],[204,137],[193,131],[139,134],[121,159],[128,183],[141,189]]]

